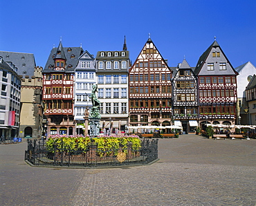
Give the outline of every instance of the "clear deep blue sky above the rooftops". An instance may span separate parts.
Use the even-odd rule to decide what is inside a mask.
[[[34,53],[44,67],[60,37],[64,47],[122,50],[135,61],[151,34],[169,66],[195,66],[214,36],[235,68],[256,66],[255,0],[1,1],[0,50]]]

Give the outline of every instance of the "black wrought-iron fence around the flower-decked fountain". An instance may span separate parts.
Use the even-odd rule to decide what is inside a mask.
[[[158,139],[143,140],[140,149],[132,149],[131,145],[107,151],[98,149],[96,144],[85,150],[62,146],[46,149],[44,140],[28,140],[25,160],[37,166],[113,167],[145,165],[158,159]]]

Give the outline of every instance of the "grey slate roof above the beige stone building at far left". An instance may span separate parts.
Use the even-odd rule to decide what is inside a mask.
[[[28,75],[30,78],[34,75],[34,54],[0,51],[0,56],[3,57],[5,62],[12,62],[12,64],[15,64],[15,66],[18,68],[18,75]]]

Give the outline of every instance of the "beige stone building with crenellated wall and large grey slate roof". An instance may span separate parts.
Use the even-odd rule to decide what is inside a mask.
[[[0,51],[6,62],[17,67],[21,77],[21,109],[19,137],[38,138],[42,135],[42,67],[35,66],[35,57],[31,53]]]

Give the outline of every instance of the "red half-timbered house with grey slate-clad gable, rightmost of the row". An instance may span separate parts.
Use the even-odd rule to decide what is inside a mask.
[[[199,78],[199,122],[235,124],[237,75],[215,40],[196,64]]]

